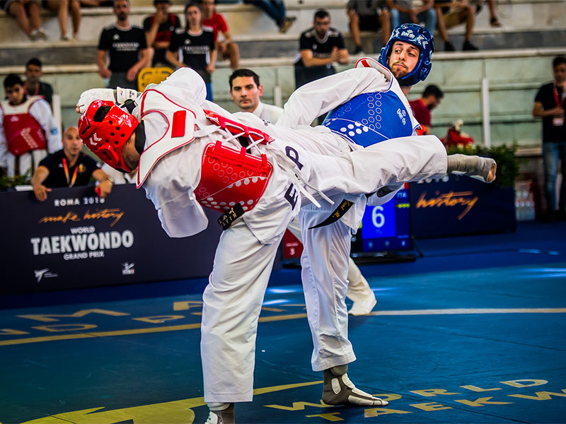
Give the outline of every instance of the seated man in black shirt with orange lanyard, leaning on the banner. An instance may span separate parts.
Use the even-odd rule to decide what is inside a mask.
[[[37,200],[44,201],[47,193],[58,187],[86,186],[91,177],[100,183],[97,187],[100,197],[110,194],[112,179],[96,160],[81,153],[82,148],[79,130],[69,126],[63,134],[63,148],[43,159],[33,174],[31,185]]]

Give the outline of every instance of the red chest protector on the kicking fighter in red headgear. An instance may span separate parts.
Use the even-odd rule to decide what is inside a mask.
[[[251,142],[270,143],[269,134],[250,128],[219,114],[204,110],[207,118],[231,134],[241,134]],[[221,141],[209,143],[202,155],[199,185],[195,189],[197,201],[215,211],[228,211],[236,204],[243,211],[250,211],[265,192],[273,166],[267,156],[259,158],[246,153],[246,147],[238,150],[223,146]]]

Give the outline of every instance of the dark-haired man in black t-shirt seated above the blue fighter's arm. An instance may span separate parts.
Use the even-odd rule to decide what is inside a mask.
[[[314,14],[313,28],[299,39],[299,54],[295,59],[296,88],[324,76],[336,73],[334,62],[348,63],[348,51],[340,31],[330,28],[330,13],[318,9]]]

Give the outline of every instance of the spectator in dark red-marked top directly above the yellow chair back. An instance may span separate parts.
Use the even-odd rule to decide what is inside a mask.
[[[180,28],[179,17],[169,13],[171,0],[154,0],[156,13],[144,19],[144,31],[146,33],[147,46],[150,50],[152,66],[170,66],[174,68],[165,58],[167,47],[171,41],[171,33]]]

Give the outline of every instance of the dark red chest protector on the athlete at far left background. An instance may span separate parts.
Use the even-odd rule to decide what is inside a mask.
[[[45,131],[37,119],[30,114],[30,107],[40,98],[28,98],[21,105],[12,106],[8,100],[0,102],[4,113],[4,134],[8,151],[20,156],[28,151],[47,148]]]

